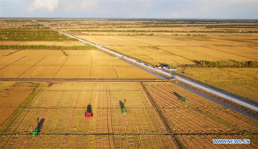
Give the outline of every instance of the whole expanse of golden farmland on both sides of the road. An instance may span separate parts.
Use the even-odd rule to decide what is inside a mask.
[[[257,62],[255,20],[33,19],[150,65],[186,67],[177,72],[258,101],[257,67],[183,65]],[[257,148],[255,118],[22,20],[0,19],[0,148]]]

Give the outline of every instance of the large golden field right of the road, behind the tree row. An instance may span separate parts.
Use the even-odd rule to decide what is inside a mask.
[[[199,61],[258,61],[258,36],[252,41],[228,41],[222,37],[187,36],[76,36],[106,45],[152,65],[194,64]],[[244,39],[243,39],[244,40]],[[245,54],[242,54],[245,51]]]

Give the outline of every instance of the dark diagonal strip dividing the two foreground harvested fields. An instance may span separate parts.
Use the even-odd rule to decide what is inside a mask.
[[[142,82],[140,82],[140,83],[141,83],[141,86],[142,86],[144,92],[147,94],[147,96],[148,96],[148,98],[149,98],[151,104],[153,105],[153,107],[155,108],[155,110],[157,111],[157,113],[159,114],[159,117],[161,118],[163,124],[166,126],[167,131],[168,131],[169,133],[172,133],[173,130],[170,128],[170,126],[169,126],[167,120],[165,119],[165,117],[163,116],[163,114],[160,112],[158,105],[157,105],[156,102],[153,100],[152,96],[150,95],[150,93],[148,92],[148,90],[146,89],[146,87],[144,86],[144,84],[143,84]],[[173,140],[175,141],[175,143],[177,144],[177,147],[178,147],[179,149],[183,149],[183,148],[184,148],[183,145],[182,145],[182,143],[179,141],[179,139],[177,139],[176,134],[173,134],[172,138],[173,138]]]

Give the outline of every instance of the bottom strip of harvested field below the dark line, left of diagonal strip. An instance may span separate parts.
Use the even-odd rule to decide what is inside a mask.
[[[169,135],[41,135],[41,138],[20,135],[0,136],[6,148],[177,148]],[[10,140],[9,143],[7,141]],[[44,140],[44,142],[42,141]],[[36,142],[36,144],[35,144]],[[7,144],[6,144],[7,143]],[[15,145],[14,145],[15,144]]]

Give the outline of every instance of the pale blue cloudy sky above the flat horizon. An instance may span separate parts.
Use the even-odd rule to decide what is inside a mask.
[[[258,19],[258,1],[6,1],[0,17]]]

